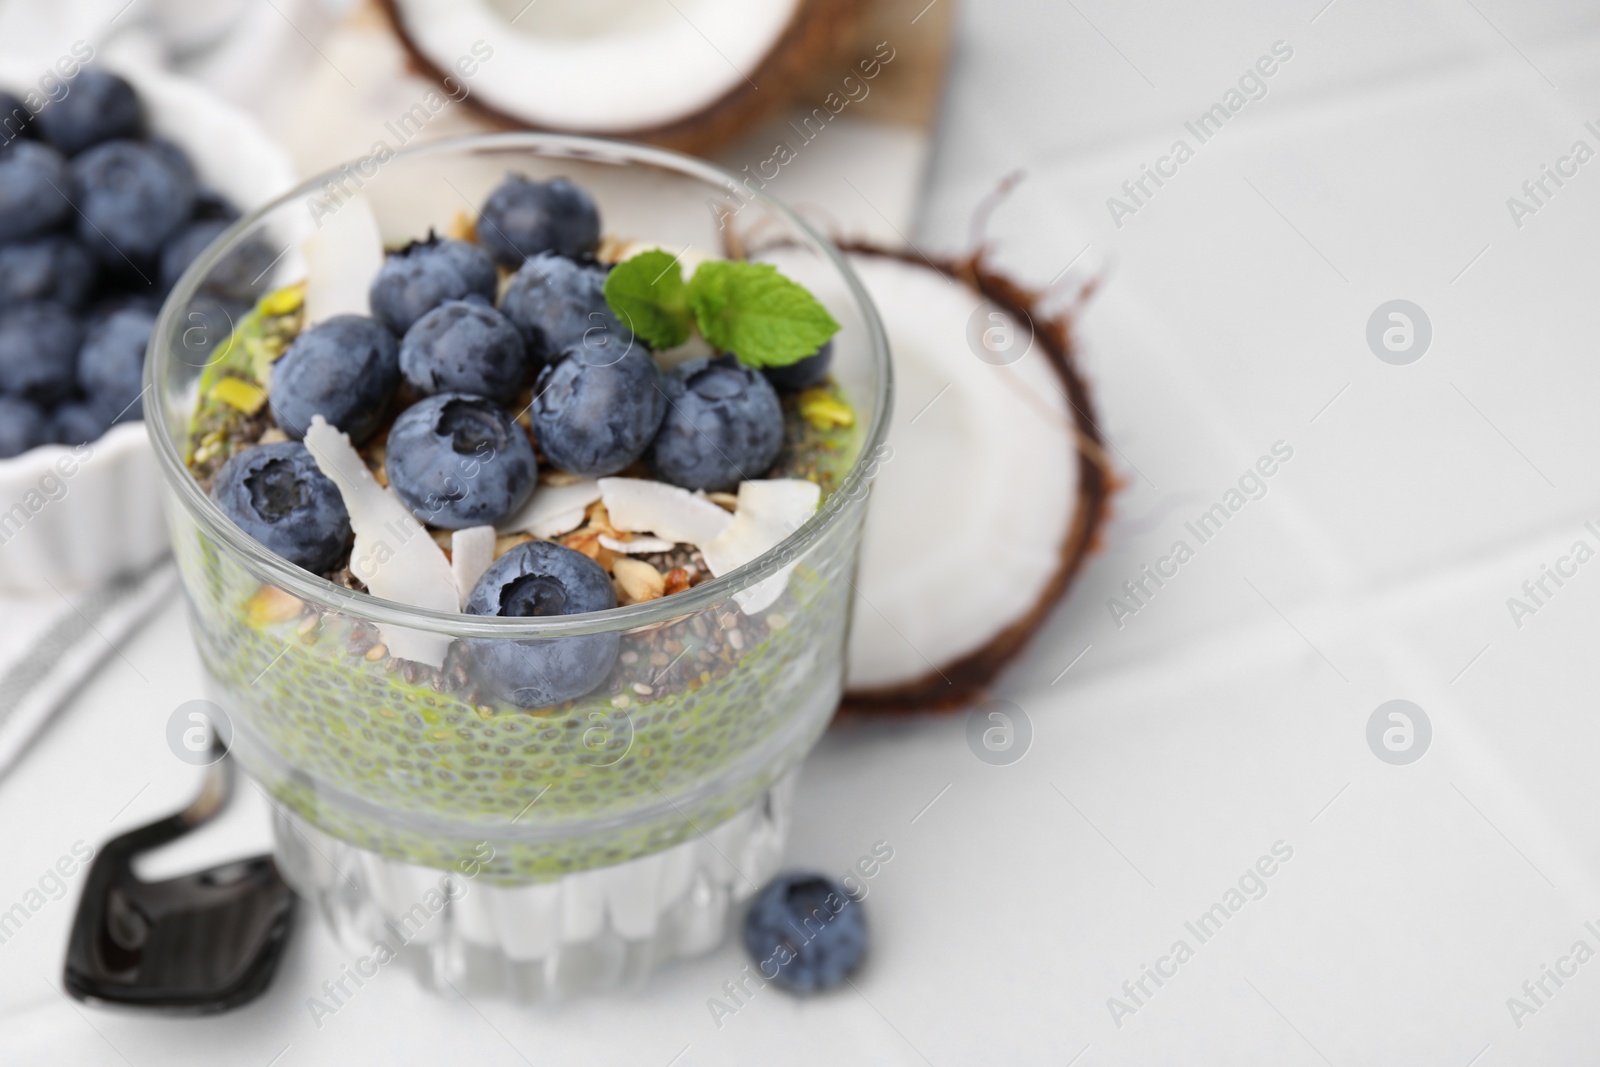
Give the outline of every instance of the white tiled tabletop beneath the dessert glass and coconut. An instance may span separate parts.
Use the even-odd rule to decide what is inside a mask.
[[[1085,245],[1074,274],[1104,270],[1083,357],[1128,490],[1002,686],[1034,723],[1026,758],[978,761],[952,717],[838,729],[808,763],[795,864],[842,870],[877,840],[894,848],[858,990],[766,990],[718,1027],[706,1001],[742,963],[726,947],[555,1013],[384,974],[317,1029],[304,998],[346,957],[307,925],[262,1001],[130,1017],[48,985],[69,896],[0,945],[0,1059],[1592,1059],[1600,958],[1546,979],[1541,1005],[1522,985],[1579,939],[1600,952],[1584,926],[1600,928],[1600,561],[1520,629],[1506,600],[1574,541],[1600,549],[1584,528],[1600,520],[1600,160],[1522,229],[1506,198],[1574,139],[1600,150],[1584,130],[1600,120],[1600,14],[1296,6],[963,8],[917,243],[960,248],[998,178],[1029,171],[992,237],[1022,277],[1051,278]],[[1115,229],[1106,198],[1277,40],[1294,56],[1267,96]],[[1365,341],[1394,298],[1434,325],[1410,366]],[[1107,598],[1278,440],[1294,456],[1267,496],[1118,629]],[[190,789],[162,739],[197,694],[176,605],[123,653],[0,784],[0,905],[74,840]],[[1408,766],[1366,745],[1394,697],[1432,721]],[[246,793],[190,848],[264,840]],[[1202,944],[1186,923],[1278,841],[1293,856],[1266,894]],[[1118,1027],[1107,998],[1178,939],[1192,958],[1158,989],[1146,979]],[[1538,1011],[1518,1025],[1509,997]]]

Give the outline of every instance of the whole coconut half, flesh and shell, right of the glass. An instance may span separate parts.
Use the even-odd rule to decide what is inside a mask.
[[[894,360],[845,707],[979,699],[1062,597],[1112,486],[1066,314],[962,262],[850,250]],[[979,355],[981,354],[981,355]]]

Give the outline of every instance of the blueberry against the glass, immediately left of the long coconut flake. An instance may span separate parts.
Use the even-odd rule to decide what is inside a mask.
[[[218,470],[211,499],[264,549],[307,571],[331,571],[350,549],[339,486],[299,442],[235,454]]]

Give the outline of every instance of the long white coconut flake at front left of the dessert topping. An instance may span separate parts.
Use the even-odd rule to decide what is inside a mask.
[[[349,435],[315,414],[306,430],[306,448],[317,467],[339,486],[344,509],[350,514],[350,528],[355,531],[350,573],[366,582],[374,597],[413,608],[459,611],[461,590],[456,589],[445,552],[434,544],[400,498],[378,485]],[[397,659],[413,659],[435,669],[445,665],[451,641],[448,635],[387,624],[379,625],[379,630],[389,654]]]

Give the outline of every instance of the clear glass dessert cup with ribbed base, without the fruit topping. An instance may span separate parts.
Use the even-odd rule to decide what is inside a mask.
[[[262,293],[307,272],[312,291],[326,288],[318,270],[373,261],[363,243],[459,229],[507,171],[586,187],[608,237],[750,258],[770,250],[838,320],[834,381],[854,424],[827,453],[781,458],[826,490],[782,544],[686,592],[611,611],[464,616],[355,593],[286,563],[190,475],[205,371],[221,352],[251,350],[250,323],[216,342],[195,315],[234,250],[264,242],[282,253]],[[445,990],[523,1000],[614,987],[717,945],[731,905],[776,869],[797,768],[842,691],[890,365],[840,253],[750,184],[688,157],[582,138],[435,142],[347,165],[242,219],[162,309],[146,360],[147,424],[208,696],[272,800],[285,878],[360,953],[358,969],[397,958]],[[368,282],[333,288],[365,293]],[[595,633],[614,635],[619,656],[576,701],[515,707],[480,673],[483,646]],[[389,654],[430,641],[448,648],[440,669]]]

